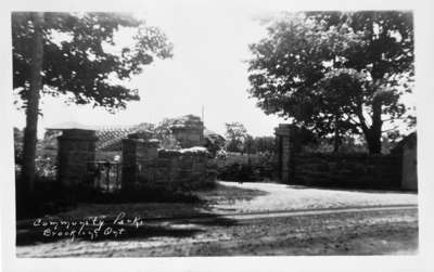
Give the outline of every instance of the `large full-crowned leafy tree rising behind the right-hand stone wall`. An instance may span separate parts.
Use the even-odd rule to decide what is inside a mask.
[[[308,12],[268,24],[268,37],[250,46],[248,91],[258,106],[336,143],[362,133],[380,153],[382,117],[401,118],[400,94],[411,91],[411,13]]]

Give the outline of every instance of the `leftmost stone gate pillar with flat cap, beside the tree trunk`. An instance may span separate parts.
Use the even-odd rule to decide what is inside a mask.
[[[94,130],[64,129],[59,141],[58,177],[62,185],[73,186],[84,182],[88,163],[95,159]]]

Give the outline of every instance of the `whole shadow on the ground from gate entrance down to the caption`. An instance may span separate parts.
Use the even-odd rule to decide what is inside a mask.
[[[81,241],[128,241],[150,237],[188,237],[204,232],[209,226],[229,226],[237,224],[235,220],[224,218],[213,213],[209,205],[220,202],[233,202],[237,199],[252,199],[265,192],[250,189],[239,189],[218,184],[214,190],[197,192],[200,202],[196,203],[125,203],[125,204],[80,204],[69,211],[60,212],[54,216],[42,217],[46,226],[35,225],[35,220],[20,220],[16,223],[16,245],[35,245],[40,243],[53,243],[58,241],[75,239]],[[139,228],[114,225],[113,220],[119,212],[126,212],[129,217],[140,216],[143,224]],[[86,219],[104,218],[101,230],[98,226],[80,225],[66,228],[63,222],[82,222]],[[90,219],[89,219],[90,218]],[[53,223],[51,223],[53,222]],[[58,228],[54,229],[58,222]],[[40,223],[41,224],[41,223]],[[108,228],[108,231],[106,229]],[[50,229],[48,232],[47,229]],[[74,231],[74,234],[71,232]],[[44,233],[46,231],[46,233]],[[104,234],[106,231],[107,234]],[[79,232],[79,234],[78,234]]]

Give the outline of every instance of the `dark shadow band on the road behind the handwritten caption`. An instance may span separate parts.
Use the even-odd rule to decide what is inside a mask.
[[[124,224],[116,222],[115,218],[104,218],[101,228],[98,223],[92,224],[89,219],[46,217],[42,221],[27,220],[27,222],[17,224],[16,246],[55,243],[65,239],[101,242],[141,241],[151,237],[192,237],[212,226],[238,224],[237,220],[197,210],[192,209],[192,213],[186,218],[142,219],[140,225],[127,223],[128,220],[133,221],[132,218],[125,218],[126,223]],[[77,222],[77,224],[72,226],[73,222]],[[89,224],[85,224],[85,222]]]

